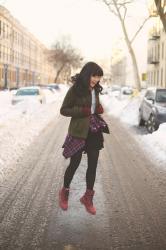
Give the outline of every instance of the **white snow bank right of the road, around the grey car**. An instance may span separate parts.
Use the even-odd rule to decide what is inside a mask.
[[[145,134],[145,129],[138,127],[138,110],[144,92],[136,97],[103,95],[102,104],[108,114],[119,118],[128,127],[137,127],[131,130],[135,139],[141,144],[141,148],[147,152],[150,158],[156,161],[160,167],[166,167],[166,123],[152,134]]]

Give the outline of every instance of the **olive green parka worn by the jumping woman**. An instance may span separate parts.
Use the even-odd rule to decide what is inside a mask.
[[[96,107],[99,103],[99,93],[96,93]],[[73,86],[68,90],[62,103],[61,115],[71,117],[68,133],[77,138],[86,139],[89,131],[90,116],[86,116],[82,112],[84,106],[91,107],[92,96],[89,90],[86,96],[78,96],[75,93]]]

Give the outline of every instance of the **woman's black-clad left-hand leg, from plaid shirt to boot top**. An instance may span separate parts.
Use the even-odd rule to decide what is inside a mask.
[[[70,158],[70,164],[68,168],[66,169],[66,172],[64,175],[64,187],[65,188],[69,188],[70,183],[75,174],[75,171],[77,170],[80,164],[81,158],[82,158],[82,151],[77,152]]]

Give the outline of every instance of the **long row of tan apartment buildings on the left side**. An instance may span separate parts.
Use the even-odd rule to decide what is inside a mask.
[[[53,82],[48,49],[0,5],[0,88]]]

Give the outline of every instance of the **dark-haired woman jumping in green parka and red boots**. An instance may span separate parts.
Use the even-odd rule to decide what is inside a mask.
[[[86,210],[96,214],[93,205],[94,183],[99,151],[103,148],[103,134],[109,133],[107,124],[99,116],[103,107],[99,102],[102,87],[99,84],[103,76],[102,68],[94,62],[88,62],[80,74],[72,78],[74,84],[68,90],[60,113],[71,117],[68,135],[63,144],[63,155],[70,157],[70,164],[64,175],[64,185],[59,192],[59,205],[63,210],[68,209],[70,183],[77,170],[82,153],[87,153],[88,168],[86,172],[86,192],[80,199]]]

